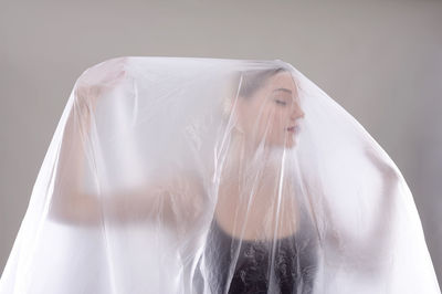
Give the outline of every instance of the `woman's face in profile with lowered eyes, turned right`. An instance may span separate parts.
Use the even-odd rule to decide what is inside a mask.
[[[304,116],[292,74],[280,72],[250,98],[238,99],[238,123],[251,143],[292,148]]]

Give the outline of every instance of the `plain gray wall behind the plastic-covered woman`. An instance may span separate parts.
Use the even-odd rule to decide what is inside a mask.
[[[61,2],[0,10],[0,270],[76,77],[169,55],[281,59],[313,80],[402,171],[442,281],[442,1]]]

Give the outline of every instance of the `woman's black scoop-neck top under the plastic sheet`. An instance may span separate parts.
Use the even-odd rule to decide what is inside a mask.
[[[312,293],[317,269],[317,242],[307,220],[302,213],[295,234],[272,242],[241,241],[220,228],[213,218],[204,250],[211,292],[222,294],[229,286],[229,294]]]

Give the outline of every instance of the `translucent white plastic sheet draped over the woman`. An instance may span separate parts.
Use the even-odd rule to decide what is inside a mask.
[[[0,293],[441,293],[397,166],[281,60],[76,81]]]

